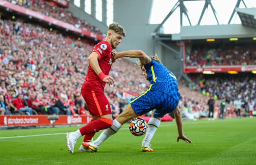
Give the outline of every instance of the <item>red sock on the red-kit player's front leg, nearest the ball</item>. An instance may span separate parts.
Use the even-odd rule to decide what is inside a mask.
[[[91,139],[96,132],[102,129],[107,129],[112,126],[113,121],[108,118],[100,118],[98,120],[93,120],[88,123],[86,126],[83,126],[80,130],[81,135],[85,135],[86,140]]]

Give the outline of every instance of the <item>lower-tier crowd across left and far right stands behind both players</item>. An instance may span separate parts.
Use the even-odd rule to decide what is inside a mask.
[[[0,29],[1,114],[88,114],[80,88],[93,44],[21,20],[0,19]],[[127,59],[118,59],[110,76],[115,84],[107,85],[105,94],[111,103],[113,117],[116,117],[132,98],[148,89],[149,84],[140,69]],[[247,81],[250,83],[245,84]],[[235,96],[251,101],[254,109],[255,79],[241,82],[209,79],[203,84],[203,87],[198,86],[198,91],[218,96],[215,102],[217,111],[221,97],[227,100],[226,109],[233,110]],[[198,114],[193,116],[195,118],[207,117],[208,95],[182,84],[179,88],[183,115],[195,112]]]

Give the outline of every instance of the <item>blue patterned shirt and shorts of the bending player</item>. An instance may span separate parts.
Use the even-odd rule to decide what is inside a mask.
[[[180,100],[177,79],[160,62],[151,60],[144,67],[151,85],[146,92],[130,102],[131,106],[140,115],[155,109],[154,117],[163,117],[174,111]]]

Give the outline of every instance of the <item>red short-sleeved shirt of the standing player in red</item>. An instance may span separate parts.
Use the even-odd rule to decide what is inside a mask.
[[[111,45],[105,40],[95,45],[93,47],[93,50],[91,51],[91,53],[96,52],[99,54],[99,59],[98,59],[99,67],[101,68],[102,72],[105,75],[108,75],[111,69],[111,65],[112,65],[111,51],[112,51]],[[92,84],[95,84],[95,87],[100,87],[102,90],[104,90],[104,87],[106,85],[105,82],[99,79],[99,76],[93,71],[93,68],[90,66],[90,64],[88,67],[88,73],[85,80],[90,81]]]

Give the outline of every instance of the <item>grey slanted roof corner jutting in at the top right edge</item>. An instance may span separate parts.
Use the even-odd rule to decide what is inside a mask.
[[[256,28],[256,8],[236,8],[242,25]]]

